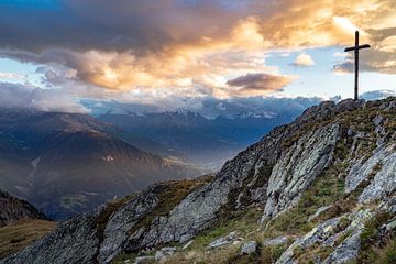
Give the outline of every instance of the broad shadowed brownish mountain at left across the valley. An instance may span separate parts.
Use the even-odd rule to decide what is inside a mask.
[[[86,114],[0,110],[0,187],[64,219],[155,182],[201,173],[131,144],[167,152],[142,139]]]

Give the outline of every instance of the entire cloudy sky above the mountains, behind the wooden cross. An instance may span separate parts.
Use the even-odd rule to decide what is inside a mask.
[[[177,108],[396,92],[395,0],[2,0],[0,102]]]

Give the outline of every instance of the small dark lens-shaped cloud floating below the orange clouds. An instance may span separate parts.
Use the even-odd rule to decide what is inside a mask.
[[[248,74],[227,81],[229,86],[240,87],[240,90],[276,91],[282,90],[293,79],[288,76],[272,74]]]

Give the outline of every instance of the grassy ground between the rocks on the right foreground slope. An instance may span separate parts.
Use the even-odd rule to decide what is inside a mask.
[[[349,152],[352,144],[352,139],[346,135],[346,131],[349,128],[353,128],[358,131],[369,132],[369,138],[360,140],[355,155],[359,157],[370,156],[376,141],[374,133],[375,125],[372,120],[378,113],[387,120],[384,124],[385,129],[395,131],[395,111],[381,111],[378,106],[374,103],[369,105],[365,109],[343,112],[322,122],[308,124],[306,128],[302,128],[300,134],[284,142],[285,147],[298,141],[299,135],[304,134],[305,131],[316,129],[329,122],[338,122],[341,125],[342,136],[337,143],[333,163],[302,194],[296,207],[262,226],[257,223],[262,216],[262,208],[260,207],[251,207],[239,212],[230,211],[228,219],[221,219],[210,230],[201,232],[194,239],[193,244],[187,250],[168,256],[165,263],[274,263],[282,252],[287,249],[287,245],[293,242],[294,238],[307,233],[315,226],[327,219],[351,211],[356,207],[358,196],[364,186],[359,186],[355,191],[349,195],[344,194],[344,179],[350,166]],[[319,207],[327,205],[333,205],[333,207],[321,213],[314,221],[308,221],[310,215],[315,213]],[[372,221],[374,223],[367,223],[366,232],[364,233],[366,238],[362,238],[363,252],[359,256],[358,263],[396,263],[395,237],[391,234],[382,243],[376,242],[376,230],[380,223],[384,223],[384,220],[373,219]],[[349,222],[345,220],[343,226],[348,224]],[[371,226],[374,226],[374,228]],[[241,256],[239,255],[241,244],[230,244],[213,250],[207,248],[211,241],[232,231],[237,231],[245,241],[256,240],[260,251],[252,256]],[[279,235],[287,235],[290,239],[285,245],[263,246],[265,240]],[[175,245],[180,246],[177,243]],[[155,251],[151,251],[144,255],[153,255]],[[326,246],[312,246],[298,254],[299,256],[297,257],[301,263],[310,263],[316,255],[326,258],[330,253],[330,249]],[[133,260],[135,257],[135,254],[124,254],[114,261],[114,263],[122,263],[124,260]]]

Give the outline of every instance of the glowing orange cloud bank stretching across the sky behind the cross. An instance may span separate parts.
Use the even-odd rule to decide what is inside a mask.
[[[371,51],[362,54],[366,64],[362,68],[396,74],[395,0],[253,0],[231,11],[210,1],[197,2],[194,8],[164,1],[139,3],[138,13],[131,4],[120,1],[108,7],[100,1],[87,12],[85,1],[73,1],[78,18],[95,22],[86,31],[76,29],[78,36],[86,37],[73,37],[70,46],[61,45],[63,38],[51,47],[36,44],[34,51],[40,52],[28,61],[62,64],[74,69],[80,80],[113,91],[251,96],[279,90],[292,81],[289,77],[258,81],[254,88],[241,86],[239,91],[228,85],[235,76],[282,76],[278,67],[266,65],[266,53],[352,45],[353,31],[359,29],[362,42],[372,44]],[[107,16],[108,12],[118,12],[120,18]],[[96,23],[100,26],[95,28]],[[101,33],[103,44],[91,28]],[[337,68],[349,70],[349,59]],[[295,63],[310,66],[315,62],[302,53]]]

